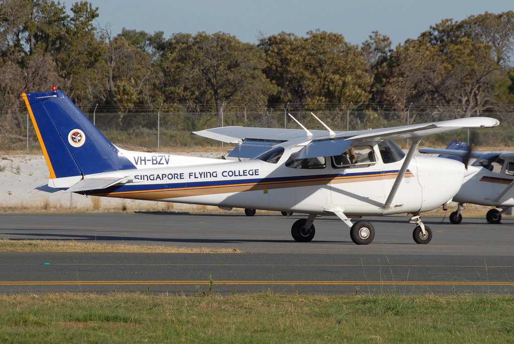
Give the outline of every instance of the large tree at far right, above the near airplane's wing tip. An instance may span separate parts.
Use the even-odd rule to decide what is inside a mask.
[[[403,109],[424,103],[442,117],[469,117],[494,109],[498,85],[508,82],[504,65],[513,38],[505,34],[510,29],[501,27],[504,21],[495,19],[487,13],[462,22],[446,19],[417,40],[399,45],[391,54],[383,100]]]

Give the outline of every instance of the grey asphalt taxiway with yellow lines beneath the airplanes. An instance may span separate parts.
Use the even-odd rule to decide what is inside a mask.
[[[355,245],[336,217],[258,214],[2,214],[0,238],[234,248],[236,254],[0,252],[0,292],[514,293],[514,220],[459,225],[424,217],[433,239],[418,245],[407,216],[368,218],[375,240]]]

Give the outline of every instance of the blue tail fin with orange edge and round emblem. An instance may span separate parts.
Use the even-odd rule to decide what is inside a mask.
[[[84,175],[136,168],[63,91],[22,97],[50,170],[49,186],[68,188]]]

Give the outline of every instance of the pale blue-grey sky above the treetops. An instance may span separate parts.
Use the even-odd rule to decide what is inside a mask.
[[[514,10],[512,0],[88,0],[98,7],[98,23],[113,35],[122,28],[154,33],[223,31],[257,43],[281,31],[306,36],[309,30],[337,32],[361,44],[372,31],[388,35],[393,47],[444,18],[461,21],[471,14]],[[65,1],[67,8],[73,1]]]

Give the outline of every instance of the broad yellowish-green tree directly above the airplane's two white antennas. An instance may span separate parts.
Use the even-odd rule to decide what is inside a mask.
[[[338,33],[317,30],[307,35],[281,32],[260,40],[264,71],[279,87],[270,103],[323,107],[368,102],[372,75],[359,47]]]

